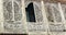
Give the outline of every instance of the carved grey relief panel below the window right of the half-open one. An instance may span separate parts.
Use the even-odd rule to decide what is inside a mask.
[[[50,24],[51,32],[63,32],[64,25],[63,24]]]

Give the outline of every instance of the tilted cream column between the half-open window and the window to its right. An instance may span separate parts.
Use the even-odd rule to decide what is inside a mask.
[[[43,14],[44,24],[45,24],[46,31],[48,32],[50,31],[48,30],[48,21],[47,21],[46,9],[45,9],[45,4],[44,4],[43,0],[41,1],[41,5],[42,5],[42,14]]]

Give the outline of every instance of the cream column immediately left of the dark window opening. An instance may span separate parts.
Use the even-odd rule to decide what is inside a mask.
[[[25,33],[29,33],[28,32],[28,24],[26,24],[26,13],[25,13],[25,2],[24,2],[25,0],[22,0],[22,14],[23,14],[23,16],[22,16],[22,21],[23,21],[23,25],[24,25],[24,32]]]

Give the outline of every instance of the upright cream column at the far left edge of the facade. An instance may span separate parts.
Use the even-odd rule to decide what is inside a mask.
[[[2,4],[2,0],[0,0],[0,33],[3,33],[4,30],[3,30],[3,4]]]

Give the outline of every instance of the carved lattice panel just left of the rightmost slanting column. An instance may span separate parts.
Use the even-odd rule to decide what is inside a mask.
[[[52,8],[53,8],[53,14],[54,14],[55,21],[56,22],[62,22],[62,16],[61,16],[61,13],[59,13],[58,5],[55,4]]]

